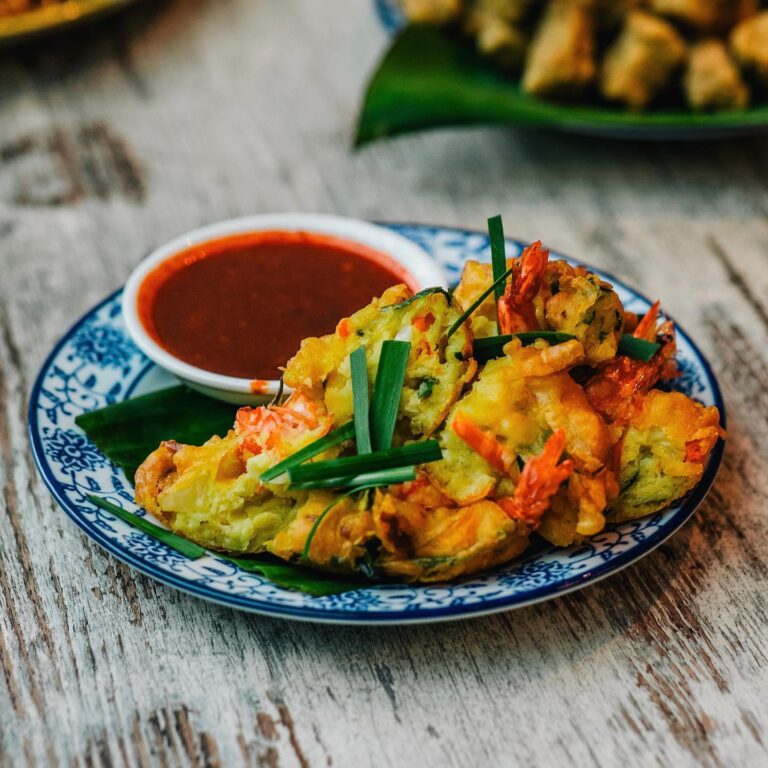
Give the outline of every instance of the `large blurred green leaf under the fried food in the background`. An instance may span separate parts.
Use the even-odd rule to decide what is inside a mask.
[[[768,126],[768,106],[735,112],[647,113],[557,104],[523,93],[466,41],[440,27],[406,27],[374,74],[357,128],[358,145],[383,136],[447,125],[519,123],[626,135],[674,131],[724,133]]]

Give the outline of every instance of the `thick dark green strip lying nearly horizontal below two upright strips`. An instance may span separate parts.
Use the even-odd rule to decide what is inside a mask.
[[[424,440],[420,443],[410,443],[387,451],[377,451],[359,456],[345,456],[341,459],[316,461],[293,467],[288,474],[291,485],[295,483],[314,482],[328,478],[344,478],[365,472],[375,472],[380,469],[427,464],[439,461],[443,457],[437,440]]]

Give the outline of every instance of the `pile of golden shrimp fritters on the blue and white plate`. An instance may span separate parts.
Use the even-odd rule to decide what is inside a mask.
[[[724,432],[716,408],[656,388],[676,375],[674,328],[658,305],[626,313],[610,284],[549,261],[541,243],[508,267],[498,307],[490,298],[463,322],[493,280],[489,265],[468,262],[453,294],[395,286],[306,339],[285,369],[284,402],[241,408],[205,445],[164,442],[139,468],[136,501],[214,550],[428,582],[507,562],[534,532],[567,546],[684,496]],[[656,345],[650,359],[620,353],[627,331]],[[497,334],[501,355],[479,365],[474,340]],[[364,348],[373,382],[391,340],[410,343],[393,445],[431,438],[442,458],[412,481],[357,493],[264,479],[350,423],[350,354]],[[309,461],[354,453],[350,436]]]

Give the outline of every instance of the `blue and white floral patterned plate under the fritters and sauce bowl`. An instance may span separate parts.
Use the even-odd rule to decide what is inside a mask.
[[[424,247],[444,267],[451,282],[458,280],[466,259],[490,258],[484,234],[410,224],[388,226]],[[521,245],[509,241],[508,248],[514,255]],[[646,298],[610,275],[603,276],[616,287],[627,309],[648,309]],[[679,328],[678,360],[683,375],[675,387],[707,405],[716,405],[724,422],[717,380],[704,356]],[[32,390],[29,432],[43,479],[88,536],[143,573],[223,605],[294,619],[354,624],[456,619],[528,605],[586,586],[635,562],[680,528],[709,490],[723,454],[720,442],[701,482],[682,504],[613,526],[581,546],[547,547],[492,573],[451,584],[370,586],[311,597],[277,587],[215,556],[189,560],[87,500],[87,494],[95,493],[126,509],[137,509],[123,472],[88,441],[75,425],[75,417],[172,383],[126,336],[119,292],[92,309],[56,345]]]

